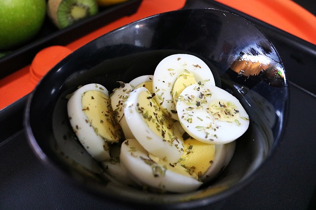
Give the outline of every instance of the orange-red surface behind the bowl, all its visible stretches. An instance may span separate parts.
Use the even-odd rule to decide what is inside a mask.
[[[291,0],[216,0],[245,14],[255,17],[285,32],[316,44],[316,17]],[[181,9],[186,0],[143,0],[138,11],[105,25],[88,35],[66,45],[71,51],[83,44],[133,21],[176,9]],[[52,65],[52,64],[50,64]],[[49,69],[49,66],[46,66]],[[26,66],[0,80],[0,109],[30,93],[36,86],[40,72],[34,76]]]

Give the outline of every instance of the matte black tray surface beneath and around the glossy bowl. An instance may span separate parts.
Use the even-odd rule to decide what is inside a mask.
[[[289,79],[284,135],[262,173],[248,186],[197,209],[316,209],[316,46],[256,24],[275,44]],[[26,99],[0,111],[0,209],[129,209],[82,191],[40,163],[22,126]]]

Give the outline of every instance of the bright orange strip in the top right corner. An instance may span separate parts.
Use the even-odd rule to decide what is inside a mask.
[[[292,0],[216,0],[316,44],[316,17]]]

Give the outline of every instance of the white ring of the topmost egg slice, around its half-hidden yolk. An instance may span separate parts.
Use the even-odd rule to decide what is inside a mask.
[[[162,110],[178,120],[176,106],[173,103],[172,89],[183,71],[192,72],[197,82],[215,85],[214,76],[209,67],[199,58],[189,54],[174,54],[160,61],[154,72],[153,91]]]

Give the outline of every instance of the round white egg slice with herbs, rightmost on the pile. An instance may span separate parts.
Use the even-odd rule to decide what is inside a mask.
[[[237,98],[213,85],[185,88],[178,98],[177,111],[184,130],[205,143],[232,142],[249,126],[249,116]]]

